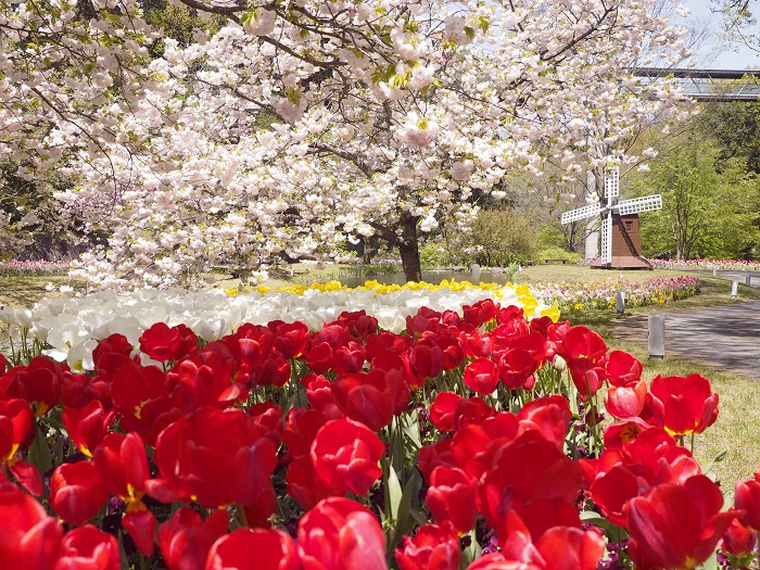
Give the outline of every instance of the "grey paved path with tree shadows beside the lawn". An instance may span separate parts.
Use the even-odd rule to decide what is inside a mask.
[[[744,284],[744,275],[720,271]],[[751,280],[760,287],[760,276]],[[760,301],[688,311],[662,312],[666,317],[666,358],[679,355],[711,368],[760,380]],[[609,324],[613,337],[646,346],[647,315],[632,315]]]

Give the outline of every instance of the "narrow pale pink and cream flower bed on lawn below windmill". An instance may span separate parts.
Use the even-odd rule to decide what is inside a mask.
[[[653,278],[644,282],[586,281],[575,283],[536,283],[531,286],[544,303],[556,304],[560,311],[616,307],[616,294],[622,291],[629,306],[661,305],[699,293],[696,277]]]

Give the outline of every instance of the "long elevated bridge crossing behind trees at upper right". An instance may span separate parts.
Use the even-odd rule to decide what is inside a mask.
[[[760,101],[760,69],[635,67],[636,77],[674,77],[684,94],[697,101]]]

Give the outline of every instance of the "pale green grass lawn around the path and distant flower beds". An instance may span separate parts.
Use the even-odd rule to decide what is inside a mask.
[[[307,283],[312,281],[328,281],[334,279],[338,271],[335,266],[317,269],[315,266],[296,266],[294,276],[281,276],[270,279],[264,284],[270,287]],[[695,275],[687,271],[655,270],[655,271],[609,271],[592,269],[577,265],[540,265],[525,267],[516,276],[517,283],[539,282],[577,282],[577,281],[615,281],[622,274],[629,281],[643,281],[651,277],[674,277],[679,275]],[[760,430],[756,429],[755,418],[760,409],[760,390],[756,380],[711,370],[705,366],[685,359],[667,357],[664,360],[649,360],[646,339],[643,341],[620,340],[612,338],[609,332],[610,322],[628,318],[628,315],[645,314],[653,311],[681,311],[705,306],[718,306],[760,299],[760,290],[740,284],[738,297],[731,297],[731,280],[712,277],[710,274],[697,274],[702,280],[701,293],[692,299],[675,301],[667,305],[648,307],[631,307],[625,315],[620,316],[615,311],[586,309],[583,312],[567,312],[563,319],[573,325],[585,325],[599,332],[610,350],[622,350],[634,354],[644,365],[644,378],[649,380],[656,375],[686,376],[699,372],[712,381],[712,387],[720,395],[720,415],[718,421],[706,433],[695,439],[695,455],[707,468],[712,459],[726,452],[722,461],[714,464],[708,474],[724,484],[726,493],[733,493],[734,481],[749,479],[756,470],[760,470]],[[219,276],[217,284],[237,287],[238,281],[226,280]],[[0,305],[13,307],[30,307],[46,295],[55,294],[46,291],[47,283],[55,288],[61,284],[81,287],[65,276],[28,276],[0,278]]]

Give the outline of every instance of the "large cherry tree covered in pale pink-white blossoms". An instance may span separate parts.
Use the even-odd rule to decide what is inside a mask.
[[[0,147],[73,181],[56,197],[110,235],[78,271],[101,286],[368,236],[419,279],[420,240],[466,231],[506,172],[569,181],[682,100],[631,74],[687,55],[654,0],[181,2],[227,24],[150,58],[137,3],[3,1]]]

